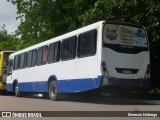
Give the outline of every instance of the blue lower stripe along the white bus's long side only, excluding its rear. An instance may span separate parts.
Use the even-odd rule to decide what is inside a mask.
[[[102,76],[98,78],[57,80],[58,92],[73,93],[95,89],[101,86]],[[48,92],[48,82],[25,82],[18,83],[20,92]],[[13,91],[13,85],[7,84],[7,91]]]

